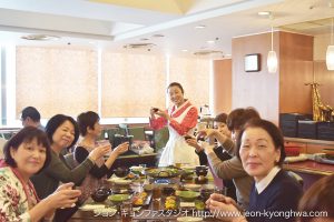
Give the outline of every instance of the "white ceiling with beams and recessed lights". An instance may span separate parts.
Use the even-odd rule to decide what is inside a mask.
[[[232,53],[233,38],[268,32],[271,26],[330,33],[333,6],[334,0],[1,0],[0,41],[183,56],[215,51],[223,58]],[[21,39],[27,34],[60,39]]]

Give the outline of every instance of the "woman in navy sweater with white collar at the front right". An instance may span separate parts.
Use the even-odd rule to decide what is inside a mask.
[[[225,221],[294,221],[286,212],[296,211],[302,188],[295,179],[282,170],[285,159],[284,139],[272,122],[253,119],[237,138],[237,157],[245,171],[255,180],[250,191],[249,208],[244,216],[224,216]],[[213,211],[238,212],[232,199],[212,194],[206,202]],[[272,218],[271,218],[272,216]]]

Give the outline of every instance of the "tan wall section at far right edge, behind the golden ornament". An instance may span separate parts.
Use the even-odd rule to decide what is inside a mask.
[[[328,71],[325,61],[314,61],[315,81],[320,85],[320,94],[324,104],[334,107],[334,71]]]

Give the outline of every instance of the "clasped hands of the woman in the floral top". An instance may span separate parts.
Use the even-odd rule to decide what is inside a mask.
[[[52,209],[72,208],[81,195],[81,191],[72,190],[73,185],[73,183],[60,185],[51,195],[46,198],[46,201]]]

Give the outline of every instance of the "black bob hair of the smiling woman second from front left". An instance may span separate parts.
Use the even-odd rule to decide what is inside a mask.
[[[68,148],[71,148],[77,143],[77,141],[79,139],[79,128],[78,128],[78,124],[77,124],[76,120],[73,118],[69,117],[69,115],[56,114],[48,121],[48,123],[46,125],[46,132],[48,134],[48,138],[49,138],[49,141],[50,141],[51,145],[53,143],[53,139],[52,139],[53,133],[59,128],[59,125],[61,125],[67,120],[70,121],[72,123],[73,128],[75,128],[75,140]]]

